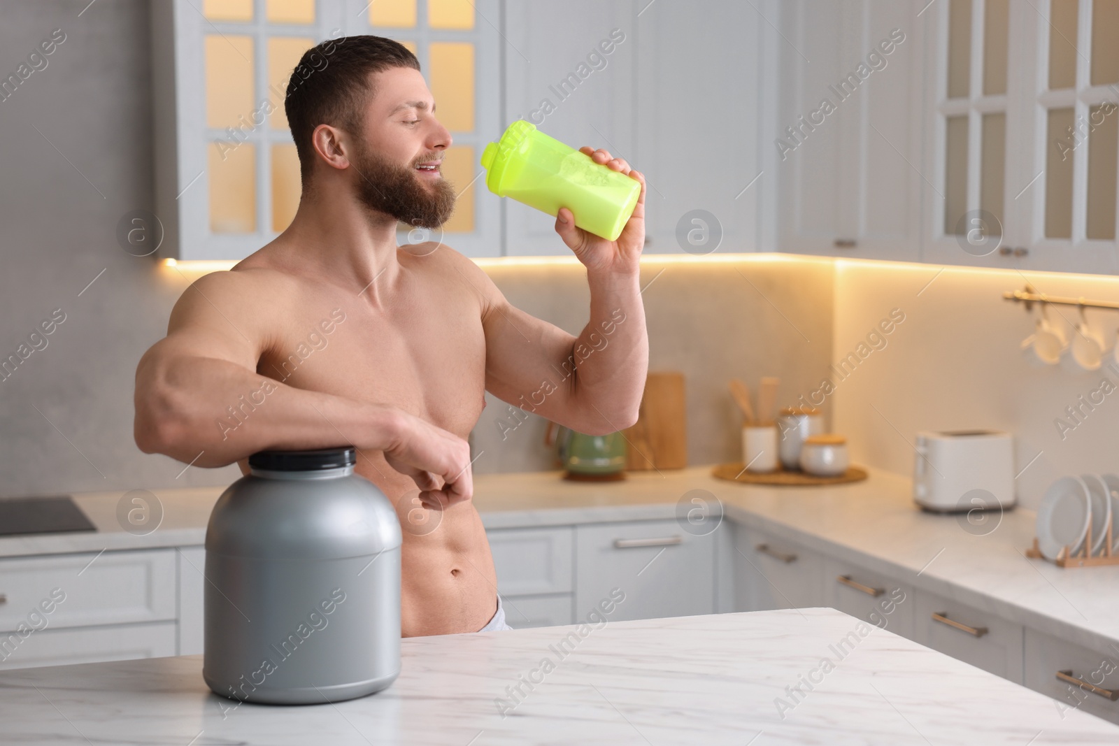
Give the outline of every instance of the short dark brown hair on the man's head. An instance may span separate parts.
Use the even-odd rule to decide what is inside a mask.
[[[304,189],[314,163],[314,128],[330,124],[357,132],[361,106],[376,94],[372,75],[392,67],[419,70],[420,60],[403,44],[379,36],[327,39],[303,53],[288,81],[284,113]]]

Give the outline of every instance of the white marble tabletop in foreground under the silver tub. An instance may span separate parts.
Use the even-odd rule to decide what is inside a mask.
[[[1059,712],[1042,695],[833,610],[577,632],[407,639],[389,689],[303,707],[238,706],[211,695],[200,655],[11,671],[0,674],[0,743],[1119,743],[1117,726]],[[833,668],[821,668],[824,658]],[[517,686],[523,697],[511,696]],[[802,693],[787,690],[798,686]]]

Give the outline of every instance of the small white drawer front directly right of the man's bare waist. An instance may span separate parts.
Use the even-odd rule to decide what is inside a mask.
[[[490,554],[501,596],[571,593],[573,529],[491,529]]]

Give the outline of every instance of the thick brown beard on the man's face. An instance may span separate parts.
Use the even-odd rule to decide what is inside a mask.
[[[358,171],[358,199],[372,210],[391,215],[413,228],[438,228],[454,211],[454,187],[442,177],[429,188],[421,183],[424,177],[414,164],[398,166],[364,144],[358,145],[351,163]]]

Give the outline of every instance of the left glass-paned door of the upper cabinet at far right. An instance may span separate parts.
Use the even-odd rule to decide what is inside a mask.
[[[1023,268],[1036,261],[1026,246],[1031,197],[1018,198],[1036,173],[1025,96],[1036,15],[1026,3],[985,0],[925,13],[925,262]]]

